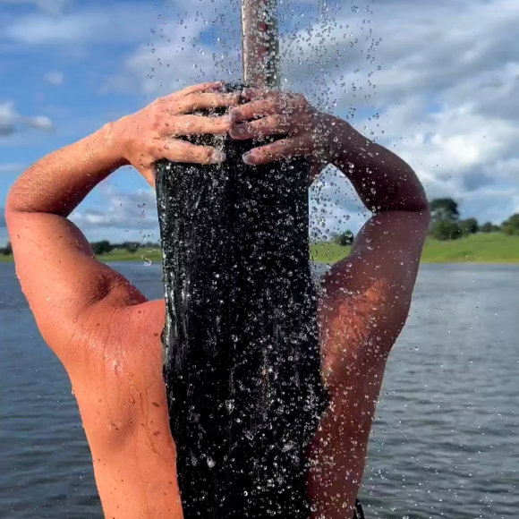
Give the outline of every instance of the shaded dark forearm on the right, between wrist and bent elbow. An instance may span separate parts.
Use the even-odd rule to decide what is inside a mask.
[[[336,123],[335,138],[333,164],[353,183],[367,208],[373,212],[428,208],[420,180],[404,160],[344,121]]]

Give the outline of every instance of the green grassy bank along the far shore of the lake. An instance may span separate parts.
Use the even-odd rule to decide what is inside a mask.
[[[311,246],[315,261],[333,263],[345,258],[349,247],[323,242]],[[137,252],[112,251],[98,256],[101,261],[160,261],[157,249],[140,249]],[[13,256],[0,256],[0,261],[12,261]],[[505,234],[472,234],[467,238],[439,242],[429,238],[425,244],[423,263],[519,263],[519,236]]]

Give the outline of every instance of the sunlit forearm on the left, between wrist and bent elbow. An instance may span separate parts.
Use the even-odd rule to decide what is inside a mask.
[[[5,210],[68,217],[119,166],[108,124],[30,166],[13,184]]]

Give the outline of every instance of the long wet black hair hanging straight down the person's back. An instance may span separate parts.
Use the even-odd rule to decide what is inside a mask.
[[[327,403],[308,166],[246,166],[242,154],[258,141],[190,140],[227,160],[157,164],[164,377],[183,515],[306,519],[305,449]]]

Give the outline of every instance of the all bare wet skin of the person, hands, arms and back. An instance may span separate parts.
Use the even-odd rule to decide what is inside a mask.
[[[285,135],[243,159],[254,165],[308,157],[311,181],[336,166],[374,212],[351,255],[325,276],[319,303],[331,404],[310,447],[308,491],[316,518],[344,519],[353,515],[387,356],[409,312],[430,221],[427,200],[403,160],[302,96],[222,87],[205,83],[159,98],[30,166],[5,209],[16,273],[41,335],[71,379],[106,517],[181,518],[162,378],[165,303],[147,301],[98,262],[68,216],[120,166],[134,166],[154,185],[160,158],[225,160],[216,149],[175,139],[184,135]],[[240,96],[246,104],[238,106]],[[228,115],[193,115],[214,106]]]

